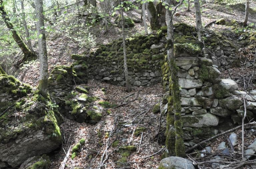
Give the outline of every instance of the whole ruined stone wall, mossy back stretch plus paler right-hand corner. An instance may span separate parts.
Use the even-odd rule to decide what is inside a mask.
[[[235,54],[232,43],[218,39],[214,32],[208,31],[205,34],[208,38],[205,39],[205,44],[212,45],[209,48],[211,52],[219,56],[221,62],[227,61],[225,63],[227,67],[237,66],[238,56]],[[166,29],[161,28],[156,35],[127,39],[127,64],[132,85],[151,86],[162,82],[168,90],[169,70],[165,62],[165,36]],[[242,95],[246,93],[237,91],[236,82],[218,78],[219,70],[224,68],[217,63],[218,60],[214,59],[211,53],[205,50],[201,52],[203,46],[200,42],[190,38],[196,36],[193,27],[176,25],[174,36],[176,64],[179,67],[178,76],[181,86],[184,140],[187,146],[193,146],[204,138],[240,124],[244,110]],[[218,42],[215,42],[216,39],[213,37]],[[87,55],[71,57],[75,60],[73,75],[77,83],[96,79],[114,85],[125,85],[121,40],[101,45]],[[71,81],[73,81],[72,78]],[[57,78],[53,83],[56,81]],[[63,90],[66,82],[60,80],[59,84],[61,84],[60,90]],[[51,89],[56,95],[61,93],[56,89],[57,86]],[[161,113],[163,114],[168,111],[168,93],[162,101]],[[256,95],[255,91],[250,95],[254,94]],[[256,100],[254,96],[246,95],[246,98],[248,100],[247,116],[249,119],[255,118]]]

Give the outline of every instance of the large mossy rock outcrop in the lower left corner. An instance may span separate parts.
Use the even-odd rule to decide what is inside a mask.
[[[58,148],[62,116],[57,106],[12,76],[1,74],[0,79],[4,84],[0,95],[5,98],[1,103],[9,105],[0,111],[0,168],[17,167],[30,157]],[[21,88],[27,93],[21,95]]]

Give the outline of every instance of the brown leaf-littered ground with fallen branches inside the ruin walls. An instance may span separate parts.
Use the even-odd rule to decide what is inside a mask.
[[[96,168],[100,166],[102,155],[107,146],[109,147],[107,148],[108,158],[105,163],[114,162],[107,165],[107,168],[110,166],[138,169],[156,168],[159,164],[161,153],[146,159],[143,158],[154,154],[162,148],[162,145],[157,142],[157,137],[155,137],[159,133],[160,113],[153,114],[152,112],[154,105],[160,102],[164,93],[161,84],[152,87],[135,88],[131,93],[127,93],[125,87],[99,83],[94,80],[89,81],[86,85],[90,87],[90,94],[100,98],[97,102],[108,101],[112,104],[121,105],[134,99],[136,100],[116,109],[109,109],[111,114],[106,113],[106,110],[102,110],[103,118],[96,125],[76,123],[65,119],[65,122],[61,125],[66,141],[65,143],[63,142],[62,148],[67,152],[70,145],[72,148],[81,138],[86,140],[82,152],[73,160],[68,160],[67,168],[89,168],[89,166]],[[105,94],[101,91],[102,88],[106,89]],[[165,121],[164,118],[161,121]],[[136,134],[136,132],[133,134],[134,129],[139,127],[144,127],[143,135],[142,133]],[[106,134],[107,132],[109,137]],[[112,145],[115,140],[118,140],[119,143]],[[137,149],[125,157],[126,159],[123,162],[127,162],[127,165],[118,166],[118,163],[115,162],[122,158],[122,152],[119,148],[126,145],[134,145]],[[51,157],[52,166],[50,168],[57,169],[65,156],[66,154],[62,149],[57,152]]]

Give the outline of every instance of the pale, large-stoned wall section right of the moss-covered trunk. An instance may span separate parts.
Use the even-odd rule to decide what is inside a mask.
[[[192,44],[192,43],[191,43]],[[195,45],[195,43],[193,44]],[[175,44],[176,65],[178,69],[181,113],[183,121],[183,138],[186,146],[193,146],[203,139],[241,124],[244,113],[243,95],[246,100],[247,118],[256,116],[256,94],[238,91],[238,85],[231,79],[219,79],[220,71],[213,65],[207,55],[201,53],[184,53],[180,44]],[[183,45],[183,51],[189,51],[189,45]],[[168,90],[169,70],[164,63],[163,83]],[[165,94],[162,113],[168,111]],[[172,128],[172,127],[170,127]],[[169,131],[170,132],[170,131]]]

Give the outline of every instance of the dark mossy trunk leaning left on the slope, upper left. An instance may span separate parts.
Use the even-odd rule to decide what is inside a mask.
[[[12,32],[12,37],[14,39],[14,41],[18,44],[18,46],[20,47],[20,49],[22,50],[22,52],[24,53],[24,57],[22,58],[22,60],[18,61],[18,63],[16,64],[16,66],[20,65],[21,63],[23,63],[26,60],[29,59],[34,59],[36,58],[36,54],[34,52],[32,52],[27,45],[22,41],[22,39],[20,38],[20,36],[17,34],[17,31],[14,30],[14,27],[11,23],[10,18],[8,17],[4,6],[3,6],[3,0],[0,0],[0,13],[2,13],[2,18],[4,20],[4,23],[6,24],[7,28],[10,29],[10,31]]]

